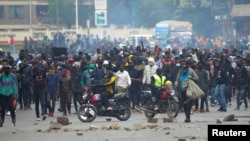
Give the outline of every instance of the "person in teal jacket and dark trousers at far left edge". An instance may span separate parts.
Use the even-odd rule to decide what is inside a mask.
[[[8,60],[2,61],[2,70],[3,73],[0,74],[0,127],[3,126],[5,120],[6,108],[10,110],[10,115],[12,123],[16,123],[16,113],[15,113],[15,104],[13,101],[16,101],[16,96],[18,94],[18,84],[16,75],[11,73]]]

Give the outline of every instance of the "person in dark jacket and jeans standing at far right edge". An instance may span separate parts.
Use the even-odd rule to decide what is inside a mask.
[[[245,90],[247,88],[247,84],[249,84],[249,75],[246,67],[243,65],[242,58],[238,57],[236,59],[236,65],[233,77],[233,87],[235,88],[235,94],[237,96],[237,106],[235,107],[235,110],[240,110],[241,101],[244,102],[245,110],[247,110],[248,103]]]

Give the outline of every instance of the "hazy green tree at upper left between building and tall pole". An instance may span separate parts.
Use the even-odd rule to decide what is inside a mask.
[[[75,3],[72,0],[47,0],[47,2],[52,23],[56,24],[58,19],[60,25],[66,25],[68,28],[75,24]]]

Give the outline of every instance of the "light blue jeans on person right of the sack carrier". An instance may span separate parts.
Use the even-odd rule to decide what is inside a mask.
[[[214,91],[215,99],[219,102],[220,108],[227,109],[226,96],[225,96],[226,84],[217,84]]]

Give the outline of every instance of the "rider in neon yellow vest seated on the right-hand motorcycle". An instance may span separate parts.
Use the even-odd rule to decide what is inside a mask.
[[[163,70],[161,68],[156,69],[156,74],[151,77],[151,92],[154,96],[154,110],[158,110],[158,99],[163,90],[168,88],[171,93],[174,93],[175,90],[172,87],[172,82],[167,80],[163,75]]]

